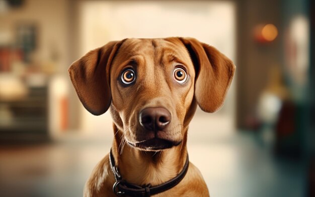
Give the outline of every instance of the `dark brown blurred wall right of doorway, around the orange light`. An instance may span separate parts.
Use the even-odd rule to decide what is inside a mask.
[[[237,126],[248,128],[268,71],[281,67],[281,7],[280,1],[273,0],[240,0],[237,7]],[[255,26],[269,23],[278,28],[279,36],[271,43],[259,45],[254,40]]]

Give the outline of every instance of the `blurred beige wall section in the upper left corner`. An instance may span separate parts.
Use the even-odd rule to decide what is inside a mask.
[[[2,13],[0,17],[1,40],[14,42],[18,24],[34,24],[37,27],[38,40],[34,59],[44,64],[57,53],[58,73],[64,73],[68,64],[67,13],[66,0],[28,0],[23,5]]]

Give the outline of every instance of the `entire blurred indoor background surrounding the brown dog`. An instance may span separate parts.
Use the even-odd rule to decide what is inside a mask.
[[[124,38],[194,37],[237,65],[224,107],[197,110],[190,160],[211,196],[315,196],[315,3],[0,0],[0,195],[82,196],[110,150],[67,74]]]

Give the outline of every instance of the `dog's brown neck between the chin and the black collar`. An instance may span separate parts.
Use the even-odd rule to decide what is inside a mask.
[[[182,143],[163,151],[142,151],[122,140],[122,132],[114,126],[112,152],[123,179],[138,184],[158,185],[177,176],[187,158],[187,132]]]

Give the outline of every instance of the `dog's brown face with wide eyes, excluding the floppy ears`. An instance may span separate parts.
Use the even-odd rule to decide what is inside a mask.
[[[130,145],[156,150],[180,144],[195,79],[183,44],[128,39],[113,60],[110,76],[111,112]]]

